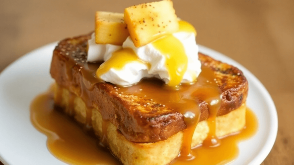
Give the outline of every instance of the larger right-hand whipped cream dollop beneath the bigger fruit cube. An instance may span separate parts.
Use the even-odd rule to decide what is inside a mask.
[[[198,60],[199,48],[196,44],[195,34],[187,32],[173,33],[184,46],[185,53],[188,57],[187,70],[183,75],[181,83],[191,83],[195,81],[201,73],[201,62]],[[131,48],[135,51],[138,58],[151,65],[148,70],[149,75],[162,79],[166,84],[171,80],[168,69],[166,68],[166,56],[160,50],[156,49],[152,43],[136,47],[130,37],[123,43],[123,48]]]

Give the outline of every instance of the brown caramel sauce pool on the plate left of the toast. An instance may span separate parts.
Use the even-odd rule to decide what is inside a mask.
[[[39,95],[31,104],[31,122],[47,136],[47,147],[58,159],[73,165],[118,165],[119,161],[99,148],[96,137],[85,134],[72,119],[54,110],[53,92]]]

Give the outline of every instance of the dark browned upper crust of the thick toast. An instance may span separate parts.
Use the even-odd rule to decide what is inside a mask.
[[[88,97],[83,101],[89,103],[90,107],[98,109],[103,119],[113,123],[130,141],[157,142],[186,129],[183,115],[174,111],[172,107],[165,107],[150,99],[132,94],[118,93],[113,84],[99,82],[93,86],[93,89],[84,90],[85,86],[88,87],[87,78],[93,75],[87,75],[83,69],[95,70],[99,66],[99,63],[95,65],[86,63],[87,40],[90,37],[91,34],[67,38],[56,46],[50,73],[57,84],[78,96],[87,92]],[[225,115],[245,103],[248,82],[238,68],[201,53],[199,59],[202,65],[214,71],[222,92],[221,107],[217,116]],[[143,106],[147,103],[150,106]],[[203,121],[209,116],[206,102],[200,103],[200,110],[200,121]]]

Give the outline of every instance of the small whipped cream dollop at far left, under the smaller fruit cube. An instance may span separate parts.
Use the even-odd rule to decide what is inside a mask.
[[[96,44],[95,33],[92,33],[91,39],[88,40],[88,46],[87,61],[89,62],[106,61],[113,52],[122,48],[112,44]]]

